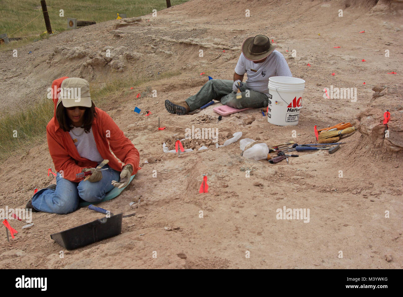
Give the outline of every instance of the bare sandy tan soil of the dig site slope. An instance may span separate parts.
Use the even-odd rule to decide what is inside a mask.
[[[50,234],[99,219],[102,214],[87,208],[67,215],[34,213],[35,225],[29,229],[10,221],[19,231],[15,239],[7,242],[3,232],[0,267],[402,268],[403,129],[396,119],[403,109],[403,53],[399,46],[403,25],[400,11],[392,9],[395,6],[354,3],[349,1],[346,7],[344,1],[244,4],[193,0],[162,10],[156,18],[109,21],[55,35],[19,49],[17,62],[10,62],[10,52],[0,53],[0,87],[9,90],[8,96],[0,95],[0,102],[2,109],[11,111],[44,97],[52,80],[64,75],[81,76],[96,85],[130,74],[154,79],[156,72],[182,72],[123,90],[110,98],[106,108],[141,156],[142,169],[131,185],[118,198],[99,205],[129,214],[133,212],[129,202],[140,198],[136,216],[123,219],[122,233],[66,251]],[[250,17],[245,17],[245,9],[250,10]],[[338,16],[339,9],[343,9],[343,17]],[[363,30],[365,33],[358,33]],[[184,116],[165,110],[165,99],[187,98],[208,75],[231,79],[240,45],[257,34],[272,38],[293,76],[306,80],[298,126],[268,124],[257,109],[224,117],[218,124],[197,120],[204,114],[217,118],[211,107]],[[337,46],[341,48],[334,48]],[[111,47],[112,54],[116,52],[115,59],[96,64],[93,58],[98,53],[102,57],[106,47]],[[25,54],[32,49],[32,54]],[[202,58],[199,49],[204,50]],[[295,58],[291,57],[294,49]],[[384,56],[385,50],[390,50],[390,57]],[[135,52],[131,54],[134,58],[126,59],[125,52]],[[397,74],[387,74],[392,71]],[[200,76],[201,72],[206,74]],[[373,100],[371,88],[378,84],[388,85],[388,93]],[[324,99],[323,88],[330,85],[356,87],[357,102]],[[148,93],[136,99],[147,87],[156,89],[157,97]],[[132,111],[135,106],[152,114],[137,115]],[[378,136],[371,131],[379,128],[387,108],[392,113],[392,132],[390,140],[383,140],[383,130]],[[158,117],[167,127],[163,131],[157,129]],[[246,125],[243,119],[250,117],[256,120]],[[372,119],[371,124],[362,122],[366,118]],[[192,125],[218,128],[219,133],[241,131],[242,138],[274,144],[315,142],[315,124],[324,128],[339,122],[359,127],[346,138],[353,142],[332,155],[326,151],[301,153],[289,165],[245,159],[239,142],[180,157],[162,152],[165,140],[184,134]],[[144,164],[145,160],[157,161]],[[47,177],[50,167],[54,169],[46,140],[4,161],[0,207],[24,207],[35,188],[52,181]],[[241,167],[253,168],[253,175],[245,177]],[[157,177],[152,176],[153,170]],[[208,175],[207,194],[198,193],[203,174]],[[277,220],[276,209],[283,206],[309,208],[310,222]],[[385,211],[390,217],[385,218]],[[61,250],[64,258],[59,257]],[[250,258],[245,257],[247,251]],[[339,251],[343,258],[338,257]],[[393,260],[386,262],[385,254],[391,254]]]

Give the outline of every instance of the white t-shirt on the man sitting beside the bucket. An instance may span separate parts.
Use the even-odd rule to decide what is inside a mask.
[[[251,70],[252,69],[252,70]],[[256,70],[253,71],[253,70]],[[269,77],[272,76],[290,76],[290,68],[280,52],[274,50],[263,63],[255,64],[243,56],[239,56],[235,72],[239,75],[247,74],[246,87],[253,91],[268,94]]]

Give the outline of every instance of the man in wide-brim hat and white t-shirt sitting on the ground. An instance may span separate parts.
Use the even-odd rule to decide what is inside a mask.
[[[211,79],[197,92],[184,101],[165,100],[170,113],[186,114],[212,100],[235,108],[259,108],[268,106],[268,82],[271,76],[293,76],[284,56],[274,50],[276,45],[264,35],[247,38],[235,67],[233,80]],[[243,76],[247,74],[246,83]],[[239,84],[238,84],[239,83]],[[237,91],[242,97],[237,99]]]

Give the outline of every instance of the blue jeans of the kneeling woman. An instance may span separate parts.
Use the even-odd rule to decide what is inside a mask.
[[[105,165],[104,168],[110,168]],[[56,175],[56,190],[41,189],[32,197],[32,206],[44,212],[66,214],[78,208],[80,198],[91,203],[97,203],[112,190],[112,180],[119,181],[120,172],[112,168],[102,171],[100,181],[80,181],[75,183]]]

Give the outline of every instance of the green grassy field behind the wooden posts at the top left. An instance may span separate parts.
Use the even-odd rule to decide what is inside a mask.
[[[188,0],[171,0],[171,5],[181,4]],[[166,8],[165,0],[47,0],[50,25],[53,32],[62,32],[67,27],[67,17],[85,21],[104,22],[116,19],[116,13],[125,13],[127,17],[141,16]],[[64,17],[60,17],[60,9]],[[39,16],[38,16],[39,15]],[[38,16],[36,19],[35,17]],[[32,21],[35,19],[34,21]],[[32,21],[31,23],[29,23]],[[29,23],[27,26],[25,26]],[[24,27],[25,26],[25,27]],[[23,27],[23,28],[22,28]],[[17,31],[18,29],[21,30]],[[12,34],[13,32],[16,33]],[[0,2],[0,34],[10,37],[25,37],[14,41],[12,45],[2,45],[0,50],[18,47],[32,42],[34,39],[47,38],[44,16],[40,0],[1,0]]]

